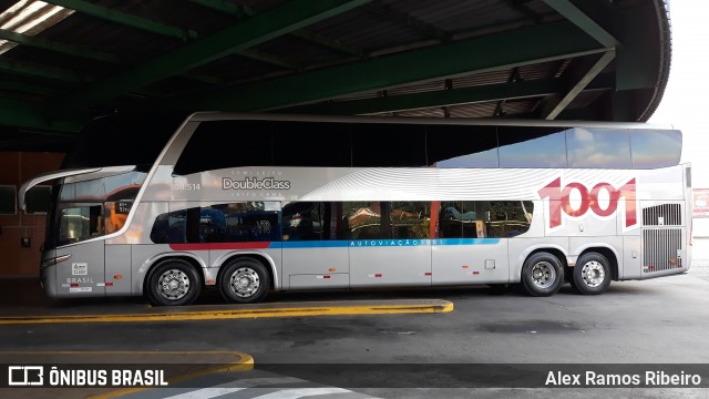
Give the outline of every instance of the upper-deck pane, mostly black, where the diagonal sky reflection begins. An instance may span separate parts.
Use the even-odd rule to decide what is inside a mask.
[[[429,165],[438,167],[497,167],[495,126],[428,125]]]

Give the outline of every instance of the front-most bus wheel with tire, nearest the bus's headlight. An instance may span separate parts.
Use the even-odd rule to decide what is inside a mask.
[[[201,289],[199,274],[191,263],[182,259],[169,259],[158,264],[147,279],[147,296],[156,306],[193,304]]]

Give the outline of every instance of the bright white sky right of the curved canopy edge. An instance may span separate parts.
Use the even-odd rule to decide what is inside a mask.
[[[672,54],[669,81],[650,123],[682,131],[682,162],[692,165],[693,188],[709,188],[709,1],[671,0]]]

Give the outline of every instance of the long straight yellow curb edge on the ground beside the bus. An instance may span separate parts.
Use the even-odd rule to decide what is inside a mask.
[[[414,305],[356,305],[330,307],[292,307],[264,309],[219,309],[202,311],[176,311],[135,315],[72,315],[72,316],[22,316],[0,317],[0,325],[62,324],[62,323],[132,323],[132,321],[184,321],[220,320],[265,317],[304,317],[338,315],[394,315],[433,314],[453,310],[453,303],[438,300]]]

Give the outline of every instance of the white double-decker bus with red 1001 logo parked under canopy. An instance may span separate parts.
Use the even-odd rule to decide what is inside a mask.
[[[54,182],[52,298],[187,305],[269,290],[684,273],[681,133],[641,123],[194,113],[94,121]],[[22,201],[22,200],[21,200]]]

